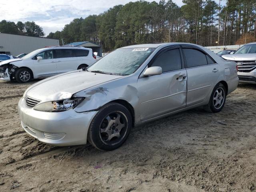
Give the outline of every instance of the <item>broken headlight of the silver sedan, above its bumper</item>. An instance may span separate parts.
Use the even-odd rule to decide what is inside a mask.
[[[84,97],[70,98],[60,101],[49,101],[38,104],[34,107],[34,110],[45,112],[62,112],[70,109],[74,109],[78,104],[84,100]]]

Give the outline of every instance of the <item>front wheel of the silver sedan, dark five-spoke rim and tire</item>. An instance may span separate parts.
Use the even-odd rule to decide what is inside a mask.
[[[132,117],[128,109],[112,102],[100,108],[93,118],[88,141],[99,150],[114,150],[125,142],[131,128]]]

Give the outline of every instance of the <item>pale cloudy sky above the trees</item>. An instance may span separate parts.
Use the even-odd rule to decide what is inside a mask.
[[[137,0],[7,0],[1,2],[0,21],[34,21],[43,28],[47,36],[50,32],[61,31],[74,18],[100,14],[115,5],[131,1]],[[173,2],[178,6],[183,5],[182,0]]]

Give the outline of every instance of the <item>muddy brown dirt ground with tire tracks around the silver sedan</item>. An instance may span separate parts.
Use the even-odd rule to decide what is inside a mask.
[[[256,86],[239,85],[218,114],[197,108],[157,120],[101,152],[26,134],[17,103],[30,84],[0,81],[1,192],[256,191]]]

